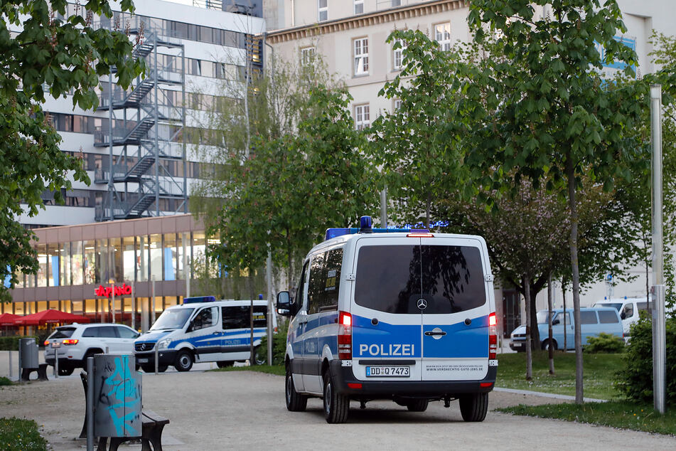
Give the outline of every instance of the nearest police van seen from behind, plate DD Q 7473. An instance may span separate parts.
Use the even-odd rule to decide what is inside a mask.
[[[390,399],[422,412],[458,400],[465,421],[483,421],[498,361],[493,275],[480,236],[428,230],[328,229],[304,260],[291,317],[286,408],[323,398],[328,423],[350,400]]]

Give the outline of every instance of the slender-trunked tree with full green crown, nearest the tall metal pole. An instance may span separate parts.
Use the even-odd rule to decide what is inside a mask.
[[[626,31],[616,1],[477,0],[468,21],[479,43],[496,33],[506,60],[472,80],[481,89],[466,90],[463,111],[483,116],[465,122],[466,147],[474,149],[466,164],[490,174],[484,184],[493,189],[510,189],[514,179],[527,178],[536,189],[542,182],[547,191],[567,197],[575,398],[581,403],[578,189],[583,175],[612,189],[616,180],[631,178],[632,165],[643,164],[645,147],[633,130],[647,105],[648,86],[600,75],[602,63],[625,63],[628,76],[636,63],[635,53],[614,39]]]

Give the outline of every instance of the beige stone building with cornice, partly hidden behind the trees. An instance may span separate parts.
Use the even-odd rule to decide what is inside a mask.
[[[395,109],[396,100],[379,97],[378,92],[387,80],[399,73],[401,49],[395,50],[387,37],[395,29],[418,29],[448,49],[456,41],[471,40],[467,23],[469,0],[266,0],[266,40],[276,54],[286,59],[308,60],[317,53],[323,57],[329,73],[342,78],[354,97],[352,115],[355,127],[370,124],[382,111]],[[653,30],[666,35],[676,32],[676,9],[669,0],[635,2],[618,0],[623,12],[627,33],[617,36],[638,54],[638,75],[651,73],[655,68],[650,59]],[[546,16],[547,9],[538,14]],[[608,65],[604,70],[621,69]],[[488,237],[487,237],[488,238]],[[645,295],[645,267],[632,270],[639,276],[635,282],[613,287],[614,295]],[[591,305],[609,294],[609,286],[599,283],[581,295],[583,305]],[[523,304],[515,290],[498,290],[500,327],[508,334],[521,322]],[[502,299],[502,302],[499,301]],[[568,293],[569,305],[572,296]],[[555,290],[555,304],[562,305],[563,293]],[[538,309],[547,307],[546,294],[536,299]]]

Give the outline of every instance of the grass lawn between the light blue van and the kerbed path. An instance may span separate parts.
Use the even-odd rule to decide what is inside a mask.
[[[555,351],[555,374],[550,376],[547,351],[534,351],[532,381],[525,380],[525,352],[498,354],[498,362],[497,387],[575,396],[574,353]],[[585,398],[618,398],[613,379],[622,365],[622,354],[584,354]]]

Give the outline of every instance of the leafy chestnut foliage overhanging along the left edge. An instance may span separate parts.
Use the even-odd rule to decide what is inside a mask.
[[[0,5],[0,278],[9,275],[13,284],[16,272],[38,270],[30,244],[34,235],[17,218],[44,208],[45,190],[63,201],[61,189],[70,189],[71,179],[89,182],[82,161],[59,149],[61,138],[43,112],[45,87],[55,98],[72,90],[73,106],[90,110],[97,106],[100,75],[114,67],[117,83],[127,87],[144,67],[129,59],[134,43],[124,33],[92,26],[94,15],[112,16],[107,0],[87,1],[82,15],[56,18],[66,15],[66,5],[65,0]],[[131,0],[120,5],[134,9]],[[21,26],[21,32],[11,33],[11,26]],[[0,295],[9,297],[4,285]]]

